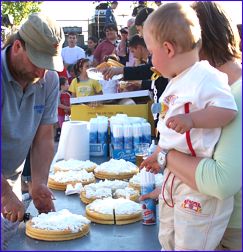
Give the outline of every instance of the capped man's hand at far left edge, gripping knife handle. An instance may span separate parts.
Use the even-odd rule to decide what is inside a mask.
[[[3,217],[11,222],[22,221],[24,217],[24,204],[17,198],[12,190],[1,195],[1,212]]]

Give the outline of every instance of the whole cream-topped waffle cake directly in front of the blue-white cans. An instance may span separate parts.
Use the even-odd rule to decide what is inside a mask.
[[[124,159],[111,159],[94,169],[96,178],[99,179],[130,179],[139,171],[138,167]]]

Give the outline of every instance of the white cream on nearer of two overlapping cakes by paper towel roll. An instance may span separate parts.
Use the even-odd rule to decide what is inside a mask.
[[[50,178],[60,183],[67,183],[71,181],[86,182],[94,179],[94,174],[92,172],[87,172],[86,170],[81,171],[58,171],[55,174],[50,174]]]

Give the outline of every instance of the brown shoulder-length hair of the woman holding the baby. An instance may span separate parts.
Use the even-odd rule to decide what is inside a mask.
[[[210,64],[219,67],[234,58],[240,59],[239,34],[221,5],[215,2],[194,2],[202,29],[201,52]]]

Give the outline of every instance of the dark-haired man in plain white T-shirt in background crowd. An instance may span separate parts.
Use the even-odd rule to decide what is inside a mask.
[[[76,64],[79,59],[85,58],[85,51],[77,46],[77,34],[75,32],[70,32],[67,40],[68,46],[62,48],[62,58],[65,67]]]

